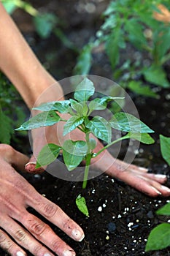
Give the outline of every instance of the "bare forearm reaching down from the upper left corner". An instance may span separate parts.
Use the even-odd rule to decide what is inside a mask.
[[[1,3],[0,69],[18,89],[28,108],[32,108],[42,92],[54,83],[56,86],[49,94],[48,101],[58,100],[63,96],[61,86],[42,67]]]

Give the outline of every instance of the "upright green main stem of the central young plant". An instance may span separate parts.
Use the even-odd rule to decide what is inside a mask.
[[[85,173],[84,173],[84,178],[82,182],[82,189],[85,189],[88,183],[88,172],[89,172],[89,167],[90,167],[90,161],[91,161],[91,152],[90,152],[90,132],[87,132],[85,134],[85,140],[88,145],[88,152],[85,157]]]

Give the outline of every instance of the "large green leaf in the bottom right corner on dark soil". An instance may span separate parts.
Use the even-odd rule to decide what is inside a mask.
[[[150,232],[145,251],[152,251],[166,248],[170,245],[170,224],[158,225]]]

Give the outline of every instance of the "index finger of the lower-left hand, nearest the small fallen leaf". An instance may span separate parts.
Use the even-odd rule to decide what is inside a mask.
[[[54,225],[59,227],[68,236],[76,241],[82,241],[85,237],[82,228],[77,225],[71,218],[66,215],[60,207],[56,206],[55,203],[50,202],[47,198],[39,195],[38,201],[31,200],[28,205],[34,208],[39,214],[48,219]]]

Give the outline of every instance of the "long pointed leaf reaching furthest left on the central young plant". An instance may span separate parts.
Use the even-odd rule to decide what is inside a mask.
[[[58,123],[58,121],[60,120],[61,120],[61,117],[58,116],[58,114],[55,113],[54,110],[50,110],[49,112],[42,112],[30,118],[28,121],[23,123],[18,129],[15,129],[15,130],[23,131],[26,129],[49,127],[49,126],[52,126],[53,124]]]

